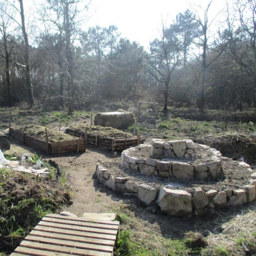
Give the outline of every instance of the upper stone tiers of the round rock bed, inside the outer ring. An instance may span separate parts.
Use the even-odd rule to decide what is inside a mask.
[[[135,157],[134,148],[128,148],[122,152],[120,166],[139,172],[141,175],[163,178],[174,176],[177,179],[205,180],[216,178],[221,172],[220,151],[206,145],[195,144],[192,140],[167,142],[153,140],[152,145],[139,145],[136,150],[140,151],[140,147],[152,149],[151,156],[159,159]],[[196,147],[205,151],[205,159],[194,161]],[[163,157],[166,157],[166,160],[161,160]]]

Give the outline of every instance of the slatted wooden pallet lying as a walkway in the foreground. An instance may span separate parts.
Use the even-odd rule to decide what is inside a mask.
[[[111,256],[119,221],[47,214],[11,256]]]

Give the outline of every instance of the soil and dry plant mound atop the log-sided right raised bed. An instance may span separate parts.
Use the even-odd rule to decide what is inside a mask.
[[[71,125],[70,129],[73,129],[74,131],[80,131],[80,132],[84,132],[87,130],[87,134],[90,136],[98,136],[100,138],[115,138],[115,139],[123,139],[126,138],[134,138],[135,136],[133,136],[131,133],[129,132],[123,132],[120,131],[118,129],[112,128],[112,127],[103,127],[100,125],[90,125],[90,126],[86,126],[83,124],[75,124],[75,125]]]

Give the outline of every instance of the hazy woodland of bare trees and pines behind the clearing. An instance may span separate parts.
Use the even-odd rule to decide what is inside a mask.
[[[162,24],[150,48],[118,28],[83,31],[90,1],[44,0],[26,23],[22,0],[0,1],[0,105],[90,109],[138,101],[224,111],[256,108],[256,1],[221,10],[223,29],[207,8]]]

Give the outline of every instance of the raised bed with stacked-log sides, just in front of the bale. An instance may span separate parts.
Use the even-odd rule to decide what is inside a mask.
[[[97,130],[99,129],[99,130]],[[124,150],[129,147],[137,146],[143,143],[143,137],[132,136],[132,134],[113,129],[111,127],[84,127],[67,128],[66,133],[76,137],[82,137],[86,143],[99,148],[105,148],[113,151]]]

